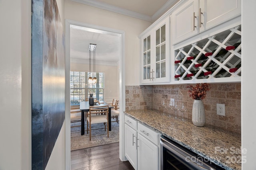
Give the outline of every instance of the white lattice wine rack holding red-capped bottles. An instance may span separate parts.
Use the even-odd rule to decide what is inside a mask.
[[[241,25],[178,48],[174,55],[175,81],[240,77]]]

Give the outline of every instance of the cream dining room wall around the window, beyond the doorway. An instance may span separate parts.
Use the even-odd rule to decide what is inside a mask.
[[[72,71],[89,71],[89,65],[83,63],[70,63]],[[96,72],[104,72],[105,88],[104,98],[118,98],[118,66],[97,65]]]

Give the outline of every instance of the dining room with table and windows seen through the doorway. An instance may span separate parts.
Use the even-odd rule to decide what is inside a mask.
[[[118,116],[111,116],[112,110],[119,110],[119,48],[120,37],[113,33],[70,25],[71,151],[119,142]],[[91,123],[89,128],[90,106],[107,106],[109,111],[103,114],[108,123]]]

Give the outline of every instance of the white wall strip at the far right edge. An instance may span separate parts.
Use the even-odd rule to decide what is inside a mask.
[[[255,78],[254,68],[256,57],[253,54],[256,39],[256,1],[242,0],[242,148],[247,149],[246,163],[243,170],[255,170],[256,158],[256,108],[255,108]]]

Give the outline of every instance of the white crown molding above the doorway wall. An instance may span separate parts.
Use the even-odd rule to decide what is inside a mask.
[[[138,12],[134,12],[134,11],[130,11],[130,10],[126,10],[124,8],[120,8],[120,7],[117,7],[117,6],[110,5],[110,4],[106,4],[104,2],[99,2],[97,0],[72,0],[72,1],[79,2],[79,3],[82,3],[82,4],[86,4],[86,5],[89,5],[89,6],[94,6],[96,8],[101,8],[103,10],[116,12],[116,13],[123,14],[123,15],[126,15],[126,16],[131,16],[131,17],[138,18],[138,19],[141,19],[141,20],[152,22],[152,17],[151,16],[140,14]]]

